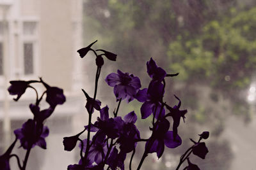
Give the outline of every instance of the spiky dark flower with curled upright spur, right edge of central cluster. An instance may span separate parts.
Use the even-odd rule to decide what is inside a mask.
[[[188,112],[188,110],[179,110],[181,101],[177,96],[175,96],[175,98],[179,100],[178,105],[175,105],[173,108],[166,105],[166,108],[170,111],[168,114],[170,114],[170,116],[173,118],[173,138],[176,138],[178,134],[180,118],[182,117],[183,121],[185,122],[185,114]]]

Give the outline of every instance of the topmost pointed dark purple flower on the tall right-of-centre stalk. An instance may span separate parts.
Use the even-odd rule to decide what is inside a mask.
[[[157,67],[156,62],[150,58],[147,62],[147,73],[153,80],[162,81],[166,76],[166,71],[161,67]]]

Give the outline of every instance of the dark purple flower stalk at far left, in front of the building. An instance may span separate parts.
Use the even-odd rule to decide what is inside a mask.
[[[19,169],[25,170],[31,149],[36,145],[40,148],[46,149],[45,138],[49,135],[49,128],[44,125],[44,122],[52,115],[58,104],[65,103],[66,97],[63,94],[63,89],[51,87],[45,83],[42,78],[40,78],[40,80],[30,81],[15,80],[10,81],[10,83],[11,85],[8,88],[8,92],[10,95],[17,95],[17,97],[13,99],[14,101],[19,101],[20,97],[28,88],[35,90],[36,101],[35,103],[29,104],[29,108],[33,113],[33,118],[29,118],[20,129],[16,129],[14,131],[15,141],[13,141],[8,150],[0,156],[0,169],[10,170],[10,159],[15,157]],[[43,87],[45,87],[45,91],[40,97],[38,96],[38,90],[33,87],[34,83],[40,83]],[[40,103],[43,101],[42,99],[45,95],[45,102],[49,104],[49,108],[42,110],[40,108]],[[20,141],[19,148],[24,148],[24,150],[26,150],[26,155],[23,162],[20,162],[19,155],[12,153],[12,150],[18,140]]]

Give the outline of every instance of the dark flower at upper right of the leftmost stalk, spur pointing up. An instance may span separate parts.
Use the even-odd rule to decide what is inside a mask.
[[[63,89],[47,85],[47,83],[45,83],[42,78],[40,78],[40,81],[46,88],[46,101],[50,104],[51,108],[54,109],[57,104],[65,103],[66,97],[63,94]]]

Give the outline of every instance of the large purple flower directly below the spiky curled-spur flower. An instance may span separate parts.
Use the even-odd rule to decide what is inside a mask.
[[[156,152],[157,157],[160,158],[164,152],[164,145],[168,148],[176,148],[181,145],[181,138],[177,135],[174,139],[173,132],[168,131],[169,127],[170,123],[166,118],[158,122],[156,129],[153,129],[154,132],[145,145],[145,150],[147,150],[148,153]]]

